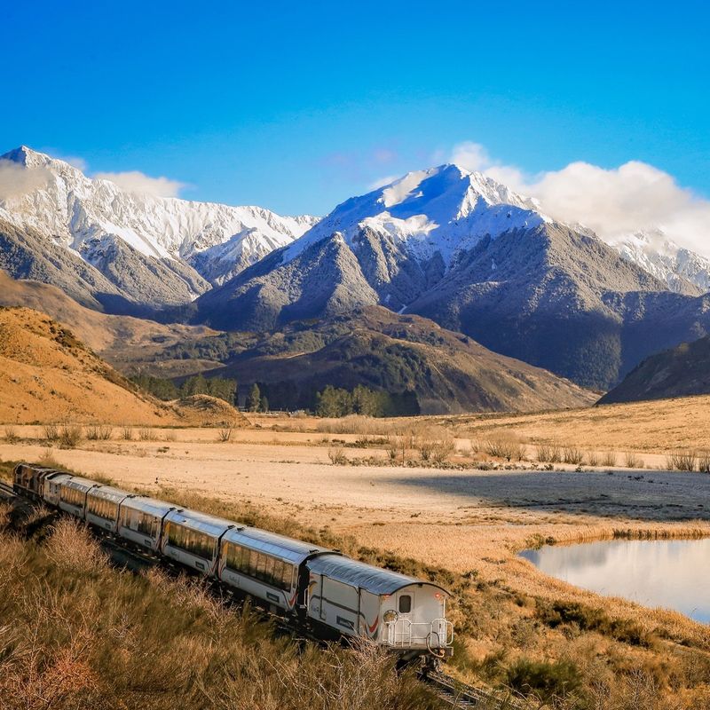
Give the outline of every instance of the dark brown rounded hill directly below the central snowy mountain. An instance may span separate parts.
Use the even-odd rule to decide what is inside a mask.
[[[422,414],[530,412],[591,405],[597,395],[490,351],[420,316],[373,306],[346,316],[289,324],[216,375],[240,383],[288,381],[304,390],[326,384],[416,393]]]

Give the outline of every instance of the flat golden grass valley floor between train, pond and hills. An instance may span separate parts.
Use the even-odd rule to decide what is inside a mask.
[[[698,404],[690,406],[701,412],[703,403],[697,399]],[[619,407],[604,409],[623,412]],[[627,429],[617,422],[613,427],[611,419],[602,417],[599,421],[609,427],[609,440],[595,437],[588,432],[588,422],[596,421],[600,412],[604,414],[602,410],[580,410],[517,418],[457,417],[446,422],[438,418],[437,422],[456,431],[459,454],[470,446],[471,438],[485,438],[486,427],[498,431],[515,419],[516,430],[525,437],[531,455],[534,442],[553,439],[549,432],[554,431],[555,440],[594,445],[600,452],[615,448],[616,467],[575,470],[573,465],[556,464],[554,470],[540,470],[530,461],[516,467],[509,464],[509,469],[500,461],[496,470],[438,469],[414,461],[404,467],[392,466],[387,463],[385,438],[375,431],[367,437],[362,433],[328,433],[324,429],[342,428],[345,423],[269,416],[256,417],[256,429],[233,430],[228,442],[218,440],[220,430],[216,429],[151,430],[154,440],[131,441],[117,438],[116,431],[111,440],[83,440],[75,449],[52,446],[49,454],[59,464],[88,477],[100,474],[115,485],[168,500],[171,494],[193,493],[201,497],[195,499],[195,505],[215,499],[248,505],[335,538],[357,540],[359,546],[385,555],[411,557],[445,568],[461,580],[477,580],[485,588],[505,590],[510,600],[523,600],[519,604],[501,602],[505,611],[491,610],[491,619],[479,619],[477,630],[462,635],[469,670],[501,648],[504,653],[534,650],[543,657],[561,658],[571,652],[571,644],[577,644],[577,649],[581,638],[594,646],[594,651],[589,651],[592,656],[611,653],[609,644],[616,641],[598,635],[593,641],[581,635],[572,643],[551,629],[540,630],[534,619],[541,600],[604,607],[605,613],[670,644],[668,648],[634,647],[627,650],[627,657],[614,651],[624,663],[635,660],[640,667],[653,666],[676,655],[679,663],[685,663],[682,654],[694,657],[697,653],[710,674],[710,627],[673,611],[648,610],[623,599],[604,600],[546,577],[517,556],[520,550],[550,539],[710,535],[710,475],[651,469],[663,466],[664,447],[659,446],[655,434],[635,439],[633,424]],[[586,417],[587,423],[580,423],[581,417]],[[386,428],[390,424],[375,422],[372,426]],[[38,461],[48,454],[42,427],[13,429],[14,443],[0,441],[4,461]],[[688,440],[693,432],[698,441]],[[680,423],[673,437],[685,446],[706,443],[705,430],[686,428],[681,435]],[[630,448],[635,440],[641,452],[637,465],[646,468],[623,467],[619,446]],[[351,460],[370,459],[370,463],[334,465],[330,461],[334,450]],[[377,460],[380,465],[373,465]],[[535,629],[525,642],[515,638],[515,629],[521,625]],[[466,667],[461,670],[467,673]]]

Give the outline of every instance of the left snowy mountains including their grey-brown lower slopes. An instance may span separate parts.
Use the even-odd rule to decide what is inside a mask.
[[[33,180],[0,200],[0,265],[108,312],[190,303],[317,221],[131,192],[26,146],[2,162]]]

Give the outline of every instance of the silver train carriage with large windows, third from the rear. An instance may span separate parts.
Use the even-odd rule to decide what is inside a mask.
[[[162,525],[162,554],[197,572],[217,576],[219,540],[233,527],[237,524],[231,520],[196,510],[170,510]]]

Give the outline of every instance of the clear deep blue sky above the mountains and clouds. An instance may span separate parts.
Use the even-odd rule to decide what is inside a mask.
[[[701,3],[16,3],[2,150],[327,212],[463,141],[527,174],[648,162],[710,194]]]

